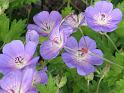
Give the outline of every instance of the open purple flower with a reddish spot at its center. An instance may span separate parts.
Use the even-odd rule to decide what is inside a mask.
[[[77,68],[80,75],[88,75],[95,71],[93,65],[101,65],[103,56],[101,50],[96,49],[96,42],[84,36],[79,44],[74,37],[69,37],[65,46],[66,52],[62,54],[63,61],[69,68]],[[97,56],[100,57],[97,57]]]

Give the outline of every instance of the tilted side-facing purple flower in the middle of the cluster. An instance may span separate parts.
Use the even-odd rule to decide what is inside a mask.
[[[49,40],[44,41],[40,47],[40,54],[44,59],[55,58],[66,43],[67,36],[57,25],[50,34]]]

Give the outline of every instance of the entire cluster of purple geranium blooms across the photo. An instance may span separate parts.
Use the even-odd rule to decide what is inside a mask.
[[[47,83],[47,67],[37,71],[39,56],[33,57],[40,37],[48,37],[40,44],[40,55],[45,60],[56,58],[64,49],[61,56],[69,68],[76,68],[82,76],[95,72],[96,66],[103,63],[103,52],[90,37],[82,36],[78,43],[71,35],[83,25],[97,32],[111,32],[121,19],[121,11],[113,9],[107,1],[99,1],[84,13],[72,13],[63,19],[57,11],[36,14],[34,24],[27,26],[25,45],[20,40],[13,40],[3,47],[0,72],[4,77],[0,80],[0,93],[38,93],[35,85]]]

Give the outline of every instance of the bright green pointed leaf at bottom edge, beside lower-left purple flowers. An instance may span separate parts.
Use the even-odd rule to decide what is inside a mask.
[[[55,80],[53,77],[49,74],[49,79],[47,85],[41,85],[39,84],[37,86],[40,93],[56,93],[57,87],[55,85]]]

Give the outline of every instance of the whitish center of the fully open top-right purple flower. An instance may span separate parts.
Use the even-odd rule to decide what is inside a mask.
[[[105,13],[99,13],[94,16],[96,20],[96,24],[106,26],[109,24],[109,20],[111,20],[111,16],[105,14]]]

